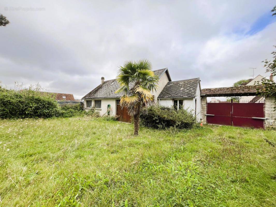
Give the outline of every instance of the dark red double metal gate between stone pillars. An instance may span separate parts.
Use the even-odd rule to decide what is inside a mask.
[[[207,123],[264,128],[264,103],[207,103]]]

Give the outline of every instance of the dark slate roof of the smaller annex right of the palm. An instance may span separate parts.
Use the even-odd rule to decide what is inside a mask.
[[[159,98],[176,98],[176,97],[195,97],[199,78],[170,81],[163,88],[158,96]]]

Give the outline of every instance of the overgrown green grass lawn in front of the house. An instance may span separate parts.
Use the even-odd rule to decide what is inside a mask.
[[[0,120],[0,206],[275,206],[276,131]]]

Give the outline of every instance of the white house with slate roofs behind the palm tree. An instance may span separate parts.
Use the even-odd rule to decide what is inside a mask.
[[[156,102],[163,106],[174,106],[176,109],[184,105],[185,108],[193,110],[200,121],[200,79],[171,81],[168,68],[155,70],[154,74],[159,76],[158,89],[152,92]],[[131,87],[131,84],[129,85]],[[116,115],[120,121],[129,122],[127,110],[120,107],[120,97],[123,94],[115,93],[119,87],[116,79],[104,81],[102,77],[101,84],[82,98],[84,109],[94,109],[99,111],[100,115]]]

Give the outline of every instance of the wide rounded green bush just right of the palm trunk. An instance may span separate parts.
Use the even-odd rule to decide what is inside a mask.
[[[141,124],[155,129],[166,129],[174,127],[178,129],[192,128],[197,119],[195,115],[188,110],[152,106],[148,108],[147,114],[140,115]]]

